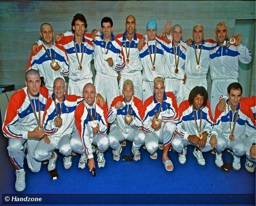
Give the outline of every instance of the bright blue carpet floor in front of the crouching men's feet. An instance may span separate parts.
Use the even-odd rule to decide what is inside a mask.
[[[2,139],[2,138],[1,138]],[[7,142],[1,140],[1,193],[17,193],[14,189],[15,174],[8,155]],[[194,147],[188,147],[186,163],[180,164],[178,154],[169,152],[174,170],[165,170],[161,160],[161,150],[157,150],[158,158],[153,160],[141,148],[141,161],[119,162],[113,160],[112,150],[105,156],[104,168],[96,167],[98,176],[92,177],[85,169],[78,169],[80,155],[73,156],[72,167],[63,167],[63,158],[58,153],[58,180],[51,180],[47,165],[41,171],[33,173],[26,168],[26,189],[22,193],[187,193],[187,194],[255,194],[255,172],[249,173],[244,168],[245,157],[241,158],[242,168],[224,173],[214,164],[215,155],[204,154],[205,166],[200,166],[193,156]],[[122,155],[131,155],[131,143],[123,147]],[[94,154],[95,155],[95,154]],[[95,155],[96,156],[96,155]],[[230,153],[223,154],[224,162],[232,163]],[[95,158],[96,160],[96,158]]]

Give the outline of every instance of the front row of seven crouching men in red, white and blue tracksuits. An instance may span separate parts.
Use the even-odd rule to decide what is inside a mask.
[[[26,186],[23,168],[26,148],[28,167],[33,172],[40,170],[43,161],[49,161],[49,171],[55,169],[56,149],[64,155],[66,169],[71,167],[72,155],[76,153],[81,154],[78,167],[85,168],[88,161],[92,171],[95,168],[92,145],[97,147],[98,167],[104,167],[103,153],[110,146],[114,160],[118,161],[120,142],[125,140],[133,142],[131,150],[136,161],[141,158],[139,149],[143,144],[152,159],[157,158],[158,143],[163,144],[162,161],[168,171],[173,169],[168,157],[171,145],[179,153],[181,164],[186,161],[186,146],[193,145],[193,154],[200,165],[205,165],[202,152],[214,149],[215,164],[221,167],[221,153],[229,149],[234,154],[234,169],[241,168],[240,157],[246,154],[246,169],[255,170],[255,119],[246,104],[248,101],[241,99],[239,83],[228,86],[228,98],[222,104],[223,111],[216,109],[215,123],[204,87],[192,89],[188,100],[178,109],[174,94],[165,91],[162,77],[154,79],[154,94],[144,104],[134,96],[132,81],[126,80],[123,95],[114,98],[109,111],[92,83],[85,84],[82,98],[65,94],[65,80],[57,77],[54,93],[48,98],[47,89],[40,87],[38,71],[31,69],[26,73],[25,84],[10,99],[2,127],[9,139],[7,149],[16,169],[17,191]],[[112,125],[107,135],[108,123]]]

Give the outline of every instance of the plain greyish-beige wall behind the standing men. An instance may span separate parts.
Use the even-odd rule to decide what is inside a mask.
[[[126,16],[133,14],[137,32],[142,34],[149,19],[156,19],[158,34],[161,34],[170,18],[173,25],[183,27],[184,39],[191,37],[191,29],[196,23],[204,26],[206,39],[214,39],[214,27],[219,21],[228,23],[232,35],[236,19],[255,19],[255,1],[0,2],[0,84],[15,84],[16,89],[23,87],[30,48],[39,38],[40,25],[51,23],[55,33],[70,30],[75,13],[85,15],[88,32],[100,28],[101,18],[109,16],[114,21],[114,33],[121,33]],[[255,92],[255,72],[252,79]]]

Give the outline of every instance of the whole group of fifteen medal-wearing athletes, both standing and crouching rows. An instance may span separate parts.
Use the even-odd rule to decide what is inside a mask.
[[[229,149],[234,169],[241,168],[240,157],[246,154],[245,168],[254,172],[256,98],[242,98],[238,83],[239,61],[248,64],[252,58],[241,35],[228,39],[225,22],[216,26],[216,41],[203,39],[200,24],[186,42],[181,41],[182,27],[171,27],[169,20],[161,37],[153,19],[144,36],[135,32],[134,16],[126,18],[125,26],[123,34],[114,36],[112,19],[104,17],[102,34],[98,29],[86,33],[85,16],[77,13],[71,32],[54,40],[53,27],[42,24],[42,40],[29,57],[26,87],[11,97],[2,127],[17,191],[26,187],[25,156],[31,171],[38,172],[42,163],[48,163],[48,171],[56,168],[56,150],[66,169],[72,156],[81,154],[78,167],[87,164],[92,171],[95,150],[98,167],[104,167],[104,152],[111,147],[119,161],[126,140],[132,142],[135,161],[141,159],[142,145],[152,159],[162,149],[167,171],[173,170],[170,148],[184,164],[186,148],[193,145],[200,165],[205,165],[202,153],[214,150],[215,164],[222,167],[222,152]],[[64,77],[69,77],[68,88]]]

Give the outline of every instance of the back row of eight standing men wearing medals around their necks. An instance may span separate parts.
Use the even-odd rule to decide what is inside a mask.
[[[241,35],[234,35],[229,41],[225,22],[216,26],[217,41],[204,39],[203,26],[196,24],[189,45],[181,41],[182,27],[175,25],[171,28],[171,21],[165,26],[169,40],[157,36],[157,25],[153,19],[148,22],[146,38],[143,38],[135,32],[136,20],[132,15],[126,18],[126,31],[115,37],[112,34],[113,21],[109,17],[101,20],[102,35],[96,33],[97,30],[88,34],[86,27],[84,15],[78,13],[71,23],[72,32],[57,35],[58,41],[54,42],[52,26],[43,24],[43,41],[38,42],[39,52],[31,53],[27,70],[39,70],[50,93],[53,77],[69,75],[68,93],[81,96],[83,86],[87,82],[92,83],[90,67],[94,59],[94,84],[97,92],[106,99],[108,108],[114,97],[121,93],[126,79],[134,82],[135,94],[144,102],[152,94],[155,77],[165,78],[167,91],[175,94],[179,105],[195,86],[203,86],[207,90],[206,75],[210,68],[213,80],[211,110],[214,114],[219,97],[226,94],[224,88],[238,81],[238,62],[248,64],[252,58],[250,51],[241,43]],[[59,70],[56,71],[56,67],[51,69],[52,62],[61,64],[57,67]],[[118,76],[121,78],[119,89]]]

